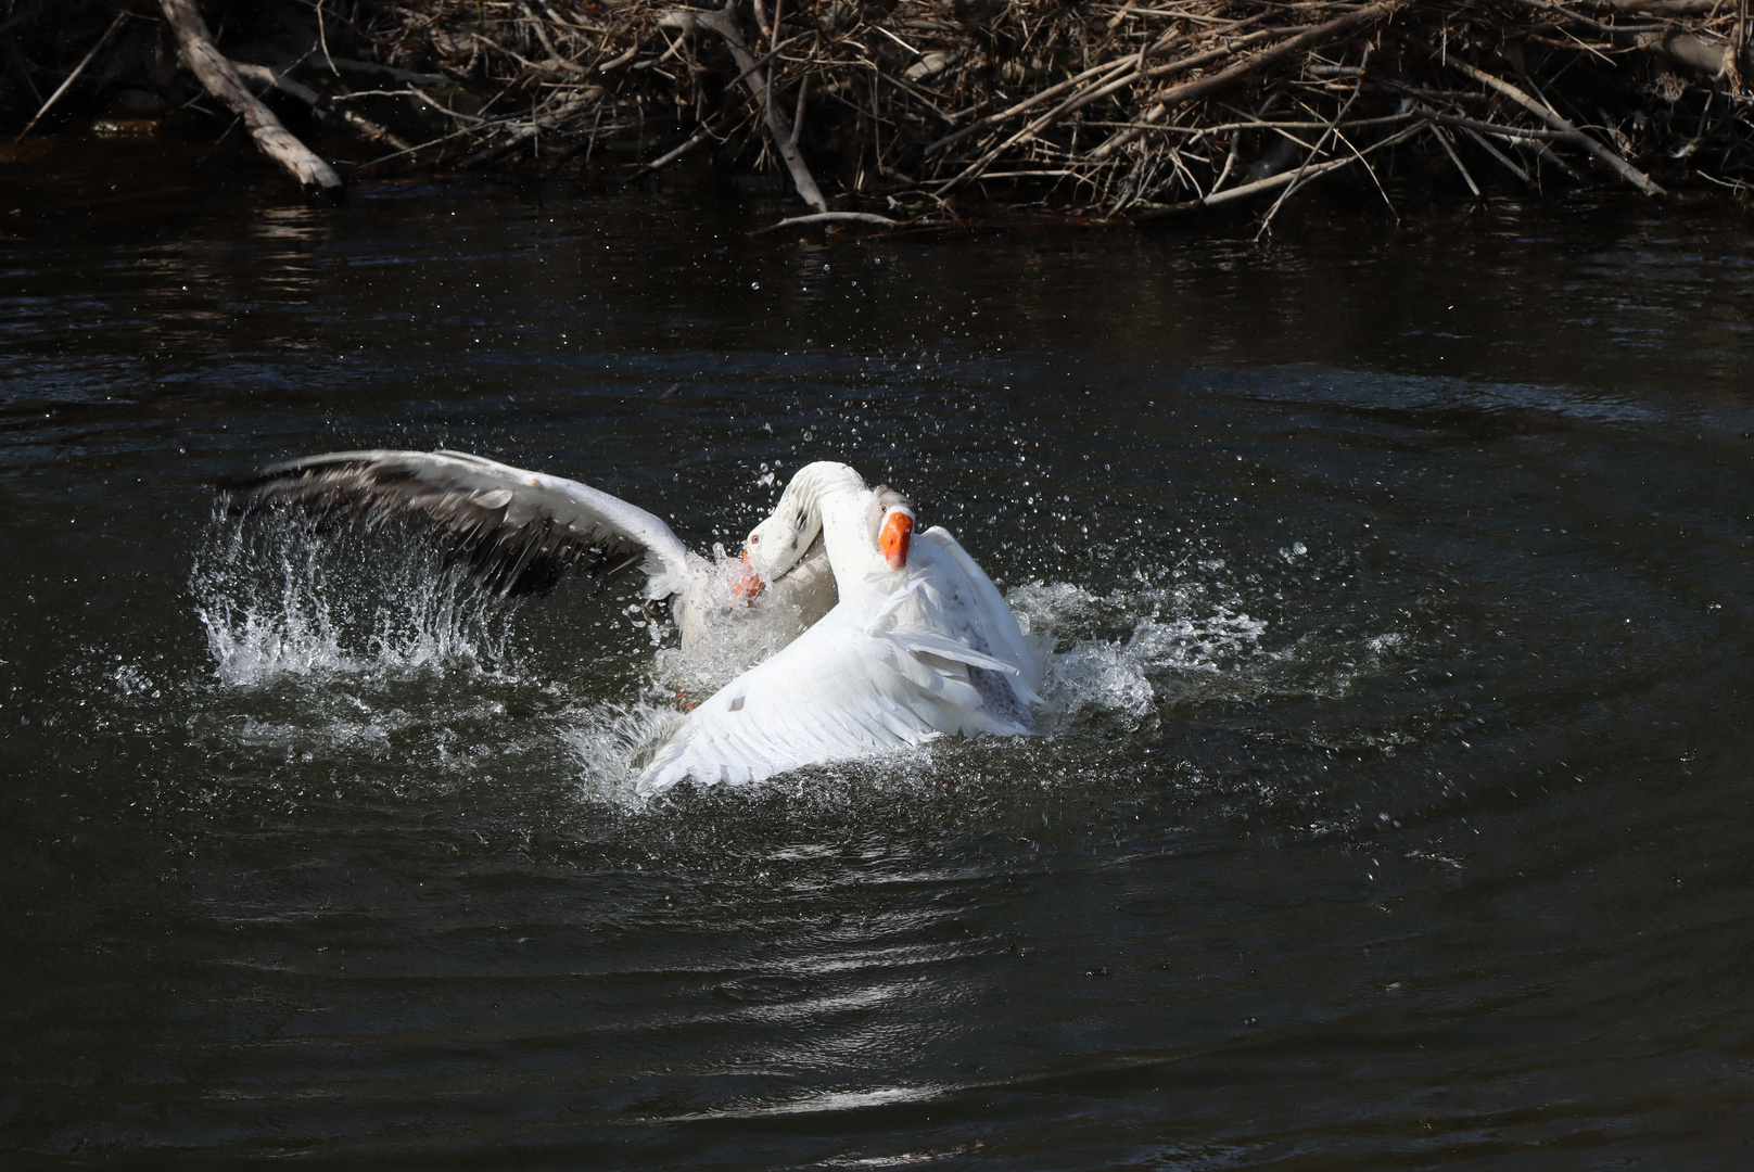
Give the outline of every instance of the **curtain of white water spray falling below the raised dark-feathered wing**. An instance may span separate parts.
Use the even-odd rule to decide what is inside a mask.
[[[381,533],[216,511],[189,593],[216,675],[232,686],[509,663],[512,607]]]

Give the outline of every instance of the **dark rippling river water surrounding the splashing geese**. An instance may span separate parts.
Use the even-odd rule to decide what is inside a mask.
[[[1754,1163],[1742,221],[98,154],[0,181],[7,1167]],[[849,461],[1054,640],[1044,735],[640,800],[630,595],[216,511],[365,446],[696,549]]]

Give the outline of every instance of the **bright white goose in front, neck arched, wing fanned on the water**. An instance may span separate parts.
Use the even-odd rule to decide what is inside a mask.
[[[998,588],[944,528],[844,463],[793,475],[744,560],[779,579],[821,528],[840,602],[682,719],[638,779],[744,784],[945,733],[1033,730],[1042,663]]]

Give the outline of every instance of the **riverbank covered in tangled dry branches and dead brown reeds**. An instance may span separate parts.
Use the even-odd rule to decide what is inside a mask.
[[[242,126],[330,197],[710,160],[779,177],[782,225],[1245,207],[1265,232],[1314,184],[1740,200],[1750,172],[1747,25],[1719,0],[140,0],[7,25],[11,135]]]

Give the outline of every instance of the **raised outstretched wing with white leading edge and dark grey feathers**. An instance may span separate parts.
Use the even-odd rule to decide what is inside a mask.
[[[691,572],[682,542],[651,512],[460,451],[335,451],[226,477],[219,488],[246,511],[372,521],[423,512],[446,560],[502,598],[545,591],[577,567],[605,584],[644,570],[647,598],[667,600],[688,590]]]

